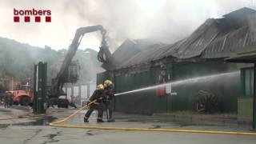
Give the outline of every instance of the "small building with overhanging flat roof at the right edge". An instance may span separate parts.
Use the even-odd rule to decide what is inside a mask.
[[[253,120],[253,129],[256,129],[256,48],[255,46],[243,47],[237,50],[237,55],[226,58],[227,62],[238,63],[241,70],[240,94],[238,97],[238,118]]]

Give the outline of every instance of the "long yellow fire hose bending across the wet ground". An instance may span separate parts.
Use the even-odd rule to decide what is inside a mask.
[[[180,132],[180,133],[199,133],[199,134],[238,134],[238,135],[255,135],[256,133],[250,132],[239,132],[239,131],[215,131],[215,130],[178,130],[178,129],[160,129],[160,128],[132,128],[132,127],[107,127],[107,126],[79,126],[79,125],[65,125],[62,122],[68,121],[73,118],[74,115],[78,114],[80,111],[88,108],[92,103],[96,102],[94,100],[88,103],[86,106],[82,106],[80,109],[76,110],[70,116],[63,118],[57,122],[51,122],[50,126],[57,126],[63,128],[82,128],[82,129],[96,129],[96,130],[126,130],[126,131],[158,131],[158,132]]]

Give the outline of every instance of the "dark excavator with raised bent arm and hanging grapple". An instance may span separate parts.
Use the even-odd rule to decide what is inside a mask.
[[[68,100],[59,98],[64,94],[62,87],[66,82],[77,82],[78,81],[78,62],[72,61],[78,46],[80,45],[84,34],[91,33],[94,31],[100,31],[102,34],[102,43],[98,52],[99,62],[110,62],[110,50],[106,42],[106,30],[101,25],[80,27],[76,30],[74,39],[71,42],[66,57],[62,62],[61,69],[59,70],[56,78],[52,79],[50,90],[47,91],[46,98],[47,106],[58,105],[58,107],[67,107],[69,105]]]

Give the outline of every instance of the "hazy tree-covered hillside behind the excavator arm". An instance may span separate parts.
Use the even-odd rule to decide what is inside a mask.
[[[98,52],[91,49],[78,50],[73,60],[81,65],[80,80],[95,81],[96,74],[102,71],[97,60]],[[18,80],[33,78],[34,65],[38,62],[48,63],[48,81],[54,78],[66,55],[66,50],[52,50],[49,46],[30,46],[8,38],[0,38],[0,73]]]

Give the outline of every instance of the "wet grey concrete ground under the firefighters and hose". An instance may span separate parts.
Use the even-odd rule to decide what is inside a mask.
[[[50,109],[46,115],[34,116],[26,107],[4,109],[0,107],[0,143],[46,144],[46,143],[255,143],[256,136],[227,134],[190,134],[174,132],[151,131],[121,131],[121,130],[86,130],[74,128],[59,128],[48,126],[55,118],[65,118],[74,112],[73,109]],[[76,115],[66,124],[90,126],[172,128],[190,130],[238,130],[249,131],[247,126],[205,125],[196,122],[170,122],[159,115],[146,116],[139,114],[114,113],[116,122],[95,122],[93,113],[90,122],[84,123],[82,113]]]

